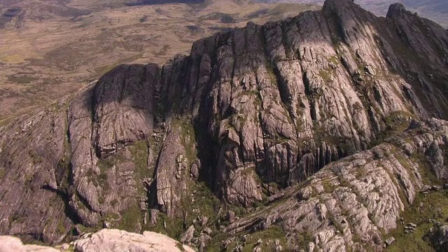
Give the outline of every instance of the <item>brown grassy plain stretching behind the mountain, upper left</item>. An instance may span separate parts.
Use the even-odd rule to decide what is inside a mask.
[[[117,64],[163,63],[216,31],[318,8],[232,0],[0,1],[0,125]]]

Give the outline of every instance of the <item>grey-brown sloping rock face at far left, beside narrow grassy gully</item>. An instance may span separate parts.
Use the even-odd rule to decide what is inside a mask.
[[[56,105],[53,110],[64,111],[59,109],[64,102]],[[64,198],[55,191],[68,184],[68,171],[61,165],[69,162],[64,155],[65,118],[64,112],[48,109],[1,130],[1,234],[59,241],[69,229]]]

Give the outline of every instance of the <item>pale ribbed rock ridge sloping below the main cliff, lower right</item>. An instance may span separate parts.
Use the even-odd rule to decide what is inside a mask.
[[[272,207],[232,223],[226,231],[280,225],[290,234],[309,232],[308,251],[381,250],[381,232],[397,228],[400,213],[429,183],[422,165],[426,161],[416,157],[424,157],[434,143],[448,148],[444,120],[430,120],[428,127],[403,132],[325,166],[300,186],[288,188],[281,196],[286,202],[273,201]],[[290,236],[288,243],[299,244],[297,239]]]

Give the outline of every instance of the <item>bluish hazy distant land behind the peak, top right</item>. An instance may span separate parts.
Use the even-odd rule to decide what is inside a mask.
[[[322,5],[324,0],[267,0],[267,2],[315,3]],[[447,0],[355,0],[363,8],[376,15],[386,15],[392,3],[403,3],[407,10],[415,11],[423,18],[429,18],[448,28]]]

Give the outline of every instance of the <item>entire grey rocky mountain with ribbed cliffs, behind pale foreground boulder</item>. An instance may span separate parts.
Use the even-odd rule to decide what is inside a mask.
[[[0,128],[0,233],[430,251],[446,240],[447,65],[446,29],[350,0],[120,65]]]

